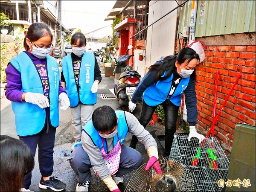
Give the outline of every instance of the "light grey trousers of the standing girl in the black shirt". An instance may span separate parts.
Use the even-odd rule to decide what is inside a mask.
[[[81,141],[81,134],[84,125],[92,119],[93,105],[79,103],[76,107],[70,108],[72,115],[73,136],[75,140]]]

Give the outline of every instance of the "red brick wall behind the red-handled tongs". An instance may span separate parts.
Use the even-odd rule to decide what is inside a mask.
[[[178,43],[178,41],[177,41]],[[215,137],[229,156],[237,123],[256,125],[255,121],[255,46],[207,46],[204,62],[196,67],[198,99],[197,130],[206,135],[212,125],[216,70],[219,71],[216,116],[227,100],[217,123]]]

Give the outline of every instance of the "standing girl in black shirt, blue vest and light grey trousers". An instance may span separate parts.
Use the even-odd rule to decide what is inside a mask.
[[[81,32],[71,37],[72,53],[62,59],[61,84],[70,99],[74,144],[81,141],[84,125],[92,118],[102,77],[95,56],[85,51],[86,38]]]

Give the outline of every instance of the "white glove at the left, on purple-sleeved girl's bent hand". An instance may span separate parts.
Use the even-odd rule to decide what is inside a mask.
[[[28,92],[25,94],[25,101],[38,105],[42,109],[50,106],[48,98],[41,93]]]

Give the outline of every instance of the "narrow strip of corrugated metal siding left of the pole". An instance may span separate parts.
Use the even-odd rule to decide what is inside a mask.
[[[177,35],[179,32],[181,33],[183,32],[183,26],[190,26],[191,6],[192,6],[192,1],[188,1],[187,3],[185,3],[183,7],[181,7],[180,21],[179,21]],[[180,35],[180,38],[182,38],[182,35]]]

